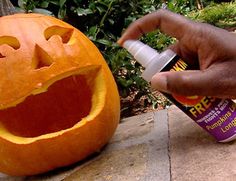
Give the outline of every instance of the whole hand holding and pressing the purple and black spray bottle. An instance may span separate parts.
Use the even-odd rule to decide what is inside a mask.
[[[178,42],[169,48],[200,70],[157,73],[151,81],[154,89],[185,96],[236,98],[235,34],[162,9],[133,22],[118,43],[123,45],[157,28],[175,37]]]

